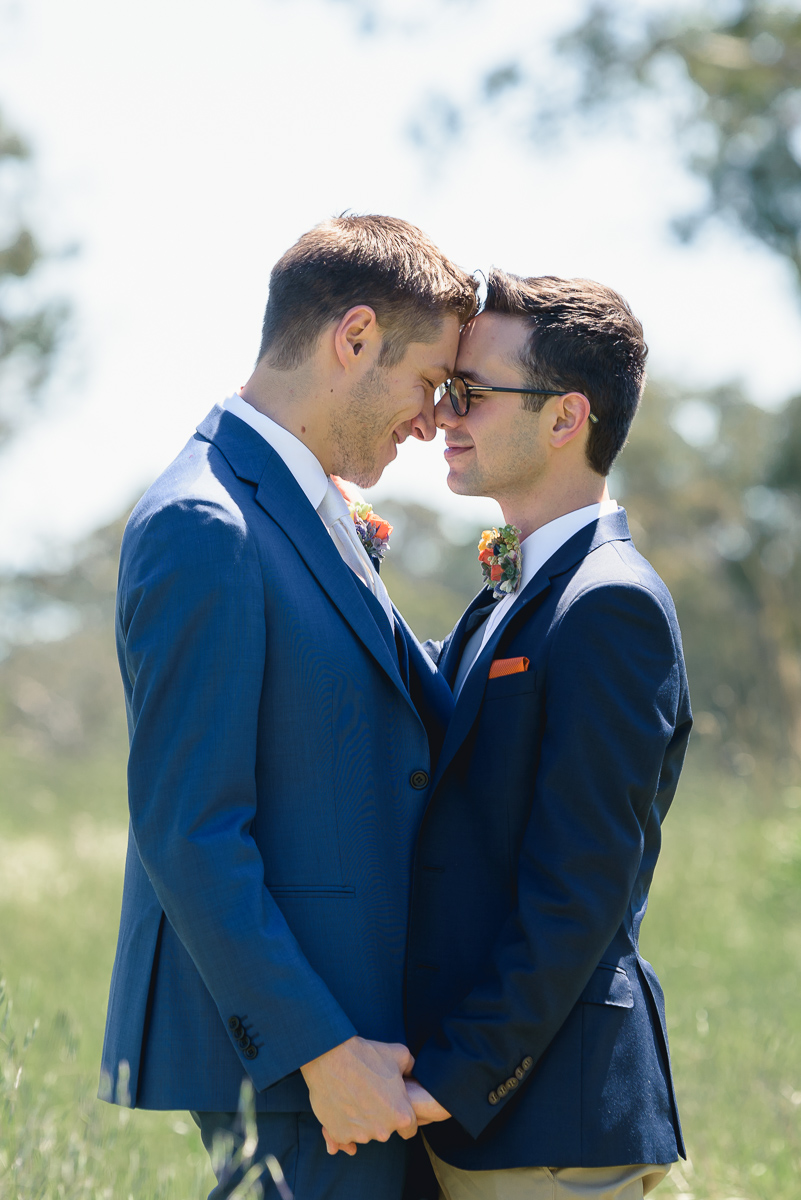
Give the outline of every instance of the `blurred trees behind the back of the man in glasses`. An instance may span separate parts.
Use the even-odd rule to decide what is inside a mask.
[[[801,397],[765,413],[734,388],[649,384],[612,480],[664,577],[712,760],[801,775]],[[795,472],[795,473],[793,473]]]

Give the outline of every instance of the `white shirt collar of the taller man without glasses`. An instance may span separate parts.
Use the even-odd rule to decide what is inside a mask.
[[[390,625],[395,628],[392,602],[386,586],[359,539],[347,500],[336,484],[331,482],[323,470],[319,460],[300,438],[296,438],[294,433],[290,433],[270,416],[265,416],[253,404],[248,404],[237,392],[227,397],[223,408],[225,412],[233,413],[234,416],[239,416],[246,425],[260,433],[265,442],[270,443],[312,508],[317,509],[318,516],[329,530],[339,556],[361,582],[369,588],[384,608]]]

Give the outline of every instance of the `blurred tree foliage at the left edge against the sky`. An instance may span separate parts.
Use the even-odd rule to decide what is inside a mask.
[[[62,302],[36,295],[44,262],[19,214],[19,182],[30,157],[0,113],[0,446],[42,395],[65,329]]]

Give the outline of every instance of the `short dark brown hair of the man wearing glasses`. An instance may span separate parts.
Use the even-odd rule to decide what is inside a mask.
[[[493,268],[484,308],[529,320],[523,367],[531,388],[580,391],[590,401],[598,420],[590,426],[586,456],[592,470],[608,475],[645,385],[648,346],[624,298],[592,280],[524,280]],[[525,396],[524,407],[537,412],[546,401]]]

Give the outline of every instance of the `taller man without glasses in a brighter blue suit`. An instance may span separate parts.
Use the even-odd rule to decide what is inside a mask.
[[[249,1081],[249,1158],[303,1200],[401,1195],[412,846],[452,708],[331,476],[368,486],[434,436],[474,312],[472,281],[403,221],[305,234],[253,376],[122,542],[131,835],[102,1094],[189,1109],[236,1148]],[[320,1123],[369,1145],[330,1157]],[[216,1200],[247,1165],[223,1159]]]

